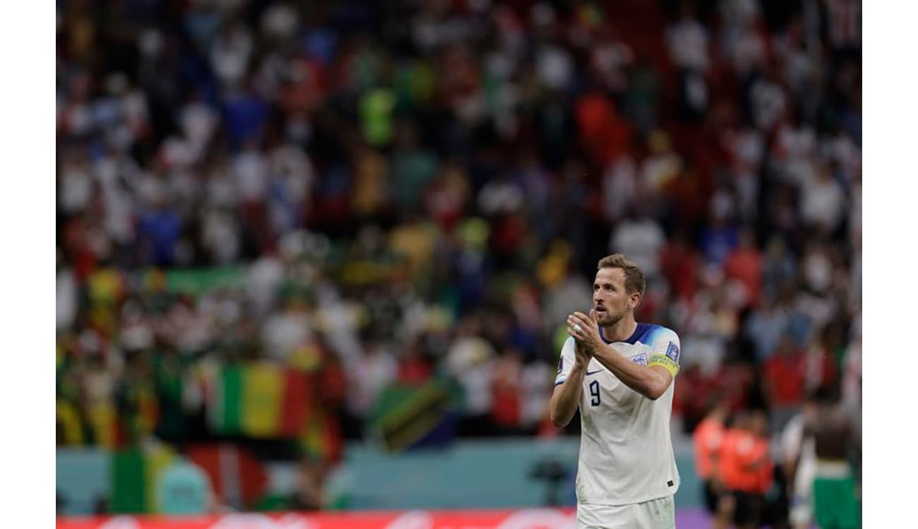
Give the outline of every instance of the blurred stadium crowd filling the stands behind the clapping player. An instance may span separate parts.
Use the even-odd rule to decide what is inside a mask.
[[[315,374],[332,461],[436,377],[458,435],[557,435],[612,252],[684,433],[832,386],[859,419],[859,9],[58,2],[59,445],[213,436],[208,373],[256,359]]]

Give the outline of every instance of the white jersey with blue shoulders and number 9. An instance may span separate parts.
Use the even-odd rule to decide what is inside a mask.
[[[664,326],[638,324],[627,340],[607,344],[633,362],[662,365],[676,376],[679,337]],[[565,383],[574,366],[574,347],[574,338],[567,338],[555,386]],[[676,493],[679,474],[669,436],[675,384],[653,401],[590,359],[580,397],[578,503],[626,505]]]

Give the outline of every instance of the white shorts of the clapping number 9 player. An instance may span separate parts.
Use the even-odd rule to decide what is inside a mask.
[[[676,529],[672,496],[630,505],[577,503],[577,529]]]

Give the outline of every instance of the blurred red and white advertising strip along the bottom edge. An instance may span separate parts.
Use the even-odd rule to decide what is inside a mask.
[[[58,518],[58,529],[574,529],[573,510],[238,513],[195,518]]]

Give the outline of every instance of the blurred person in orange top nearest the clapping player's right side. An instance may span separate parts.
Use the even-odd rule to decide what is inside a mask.
[[[733,498],[724,489],[720,475],[721,449],[726,432],[724,423],[729,413],[727,402],[720,396],[713,397],[710,411],[705,414],[692,434],[695,465],[704,488],[702,496],[708,512],[714,517],[711,523],[714,529],[726,529],[733,512]]]

